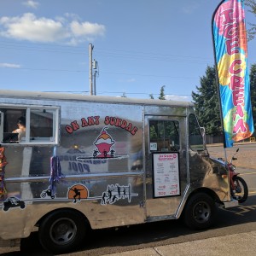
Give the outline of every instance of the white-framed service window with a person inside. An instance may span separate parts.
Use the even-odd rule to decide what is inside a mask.
[[[60,108],[1,107],[1,144],[57,144]]]

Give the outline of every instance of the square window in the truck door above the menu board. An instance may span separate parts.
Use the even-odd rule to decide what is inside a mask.
[[[178,151],[179,123],[176,120],[149,121],[150,151]]]

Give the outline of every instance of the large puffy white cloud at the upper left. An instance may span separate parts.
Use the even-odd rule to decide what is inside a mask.
[[[74,15],[70,15],[73,17]],[[55,20],[38,18],[32,13],[0,19],[0,36],[32,42],[64,42],[79,44],[104,36],[105,26],[58,17]]]

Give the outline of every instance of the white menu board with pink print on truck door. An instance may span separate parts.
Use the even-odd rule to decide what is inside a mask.
[[[180,195],[177,152],[153,153],[154,197]]]

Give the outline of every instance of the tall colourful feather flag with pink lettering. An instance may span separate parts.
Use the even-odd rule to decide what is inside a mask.
[[[247,67],[247,33],[242,0],[224,0],[212,15],[224,148],[253,135]]]

